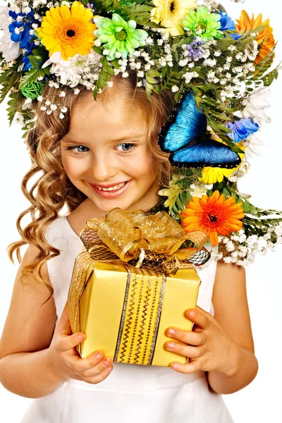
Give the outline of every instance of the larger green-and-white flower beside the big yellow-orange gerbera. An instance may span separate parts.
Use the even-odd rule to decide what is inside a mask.
[[[106,55],[108,60],[115,59],[116,52],[121,53],[122,59],[126,59],[137,47],[145,46],[148,33],[144,30],[135,30],[135,20],[126,22],[114,13],[111,19],[95,16],[94,22],[98,27],[94,30],[94,35],[109,49],[109,54]]]

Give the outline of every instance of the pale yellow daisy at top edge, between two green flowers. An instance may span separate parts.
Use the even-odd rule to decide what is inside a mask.
[[[196,0],[154,0],[151,20],[161,23],[168,32],[175,35],[184,34],[182,20],[188,11],[197,7]]]

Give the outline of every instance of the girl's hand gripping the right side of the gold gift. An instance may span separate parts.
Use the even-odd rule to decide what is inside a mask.
[[[191,311],[195,312],[195,316],[191,317],[188,314]],[[171,327],[166,330],[166,335],[188,345],[171,341],[164,345],[166,350],[189,357],[190,360],[186,364],[172,362],[170,367],[180,373],[203,370],[230,374],[238,356],[238,344],[228,336],[228,333],[222,329],[212,314],[204,311],[201,307],[196,305],[195,309],[186,310],[185,317],[194,323],[192,331]],[[173,329],[175,334],[171,333],[170,329]]]

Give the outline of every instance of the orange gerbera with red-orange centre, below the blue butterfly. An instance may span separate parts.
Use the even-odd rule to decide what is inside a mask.
[[[228,235],[240,231],[243,222],[240,221],[245,214],[241,202],[235,204],[235,198],[225,200],[224,194],[214,191],[211,197],[203,195],[202,198],[192,197],[187,209],[181,213],[185,231],[203,231],[207,233],[214,247],[219,243],[219,235]]]

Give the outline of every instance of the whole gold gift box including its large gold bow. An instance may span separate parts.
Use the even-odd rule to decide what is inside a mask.
[[[75,258],[68,293],[71,329],[86,333],[81,357],[102,350],[114,362],[185,363],[164,348],[165,331],[192,330],[185,310],[196,306],[201,281],[193,264],[209,259],[207,234],[185,233],[166,212],[116,208],[86,223],[86,251]],[[196,248],[182,248],[186,240]]]

